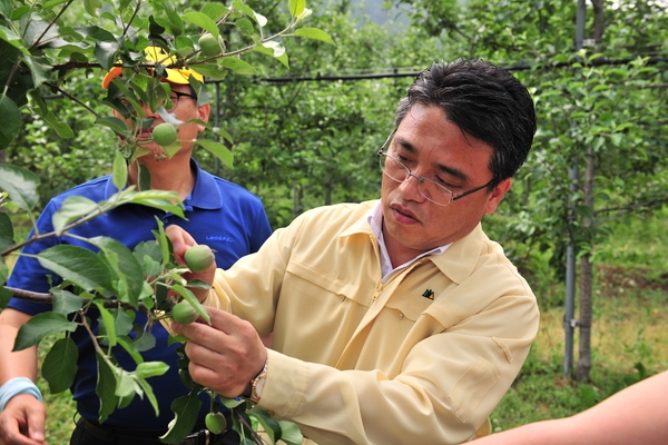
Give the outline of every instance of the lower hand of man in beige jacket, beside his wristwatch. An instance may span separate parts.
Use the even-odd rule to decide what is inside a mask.
[[[174,323],[175,333],[188,337],[186,355],[190,376],[225,397],[244,394],[248,383],[264,367],[267,350],[248,322],[226,312],[207,307],[212,325]]]

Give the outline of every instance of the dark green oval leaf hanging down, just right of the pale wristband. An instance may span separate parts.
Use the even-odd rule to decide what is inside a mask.
[[[77,374],[79,349],[71,337],[57,340],[42,363],[41,375],[49,383],[52,394],[66,390]]]

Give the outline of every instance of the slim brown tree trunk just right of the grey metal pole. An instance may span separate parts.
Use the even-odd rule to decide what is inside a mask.
[[[596,160],[593,148],[587,149],[587,168],[584,170],[584,206],[593,215],[593,176],[596,171]],[[593,249],[592,220],[590,217],[582,219],[582,226],[587,233],[589,251],[580,258],[580,318],[578,326],[580,328],[580,358],[576,378],[578,382],[589,382],[589,370],[591,369],[591,294],[593,281],[593,267],[591,264],[591,249]]]

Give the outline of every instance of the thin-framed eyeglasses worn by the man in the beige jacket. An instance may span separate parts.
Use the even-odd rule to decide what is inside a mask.
[[[489,187],[492,184],[494,184],[494,181],[497,180],[495,178],[493,178],[492,180],[490,180],[488,184],[485,184],[483,186],[472,188],[471,190],[468,190],[468,191],[464,191],[463,194],[459,194],[459,195],[454,196],[452,194],[452,190],[450,190],[449,188],[445,188],[444,186],[434,181],[433,179],[426,178],[424,176],[415,175],[414,172],[411,171],[411,169],[409,167],[406,167],[404,164],[402,164],[399,159],[396,159],[394,156],[392,156],[385,151],[385,149],[390,146],[390,142],[392,141],[392,138],[394,137],[395,132],[396,132],[396,129],[394,129],[390,134],[390,137],[387,138],[385,144],[383,144],[383,147],[381,147],[381,149],[377,151],[377,155],[380,158],[379,162],[381,166],[381,171],[383,171],[383,174],[387,175],[387,177],[390,179],[393,179],[393,180],[397,181],[399,184],[402,184],[403,181],[409,179],[411,176],[415,177],[415,179],[418,179],[418,190],[420,190],[420,195],[422,195],[429,201],[431,201],[438,206],[448,206],[451,201],[455,201],[458,199],[463,198],[464,196],[469,196],[471,194],[474,194],[478,190],[482,190],[483,188]]]

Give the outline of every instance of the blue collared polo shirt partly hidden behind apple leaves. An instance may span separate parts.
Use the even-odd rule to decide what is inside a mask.
[[[245,188],[215,177],[202,170],[195,160],[191,168],[196,171],[195,187],[185,201],[185,216],[183,219],[159,209],[140,205],[125,205],[105,215],[101,215],[75,229],[72,235],[84,238],[107,236],[117,239],[134,249],[141,241],[154,240],[151,230],[157,229],[156,217],[165,226],[178,225],[188,231],[198,244],[206,244],[215,250],[216,263],[220,268],[228,268],[239,257],[254,253],[271,235],[272,229],[261,199]],[[84,196],[94,201],[106,200],[117,191],[110,176],[94,179],[77,186],[55,197],[46,206],[37,220],[37,229],[41,234],[53,230],[51,217],[62,201],[70,196]],[[32,233],[30,234],[32,236]],[[88,243],[69,237],[50,237],[38,243],[32,243],[23,248],[26,254],[36,254],[58,244],[69,244],[94,249]],[[20,256],[17,260],[8,286],[19,289],[47,293],[51,287],[47,276],[53,275],[45,269],[35,258]],[[55,285],[61,279],[53,277]],[[13,298],[8,307],[23,313],[36,315],[48,310],[50,306],[30,303]],[[97,314],[89,313],[95,320],[97,332]],[[144,325],[146,314],[137,312],[135,324]],[[178,345],[167,345],[169,334],[158,323],[151,328],[156,337],[156,346],[141,355],[147,362],[160,360],[169,364],[169,370],[159,377],[151,377],[151,384],[159,404],[159,416],[147,397],[135,397],[127,407],[116,409],[105,423],[109,426],[136,429],[166,429],[169,421],[174,418],[170,404],[175,398],[186,395],[188,389],[181,384],[178,376],[177,354]],[[82,329],[73,333],[72,339],[79,348],[78,373],[71,387],[77,402],[77,409],[90,421],[97,421],[99,400],[95,394],[97,384],[97,364],[95,349],[88,334]],[[115,349],[119,364],[131,370],[136,367],[134,359],[120,347]],[[204,416],[209,411],[208,396],[203,395],[203,408],[198,422],[204,422]]]

